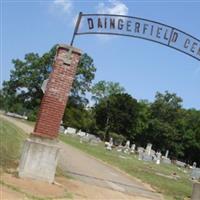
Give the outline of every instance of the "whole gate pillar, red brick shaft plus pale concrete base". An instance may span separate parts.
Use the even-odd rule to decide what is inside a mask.
[[[20,177],[54,181],[59,154],[57,136],[80,56],[79,49],[57,46],[34,131],[24,143]]]

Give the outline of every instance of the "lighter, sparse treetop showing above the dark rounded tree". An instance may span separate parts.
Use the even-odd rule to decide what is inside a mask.
[[[99,81],[92,87],[91,92],[93,94],[92,99],[98,103],[101,99],[110,95],[124,93],[125,89],[119,83]]]

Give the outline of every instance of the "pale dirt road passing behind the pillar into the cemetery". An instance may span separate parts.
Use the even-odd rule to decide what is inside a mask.
[[[33,131],[33,127],[25,124],[23,121],[16,120],[4,115],[0,117],[12,122],[27,133]],[[153,191],[149,186],[129,177],[125,173],[104,164],[103,162],[91,157],[90,155],[60,142],[61,152],[59,166],[76,180],[80,180],[87,185],[105,188],[113,192],[120,192],[124,195],[131,195],[134,199],[162,199],[161,195]],[[97,190],[96,190],[97,191]],[[95,195],[95,192],[94,192]],[[93,199],[95,196],[93,197]],[[108,196],[105,199],[111,199]],[[125,198],[126,199],[126,198]]]

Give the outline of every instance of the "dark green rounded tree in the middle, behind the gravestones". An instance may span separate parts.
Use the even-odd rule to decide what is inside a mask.
[[[96,123],[99,130],[106,130],[134,138],[138,104],[129,94],[113,94],[95,106]],[[108,139],[108,138],[107,138]]]

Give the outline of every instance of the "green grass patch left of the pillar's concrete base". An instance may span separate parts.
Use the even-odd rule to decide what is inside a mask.
[[[26,139],[21,129],[0,118],[0,167],[12,168],[17,166],[23,141]]]

